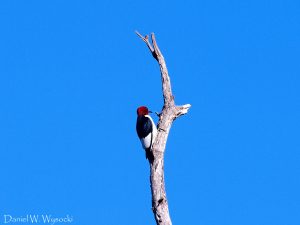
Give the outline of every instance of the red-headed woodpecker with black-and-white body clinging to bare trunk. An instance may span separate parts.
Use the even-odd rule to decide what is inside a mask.
[[[156,138],[157,128],[149,113],[151,111],[146,106],[140,106],[137,109],[136,132],[146,151],[146,159],[153,161],[151,147]]]

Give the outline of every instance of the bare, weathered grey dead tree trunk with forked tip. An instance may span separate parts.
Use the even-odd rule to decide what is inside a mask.
[[[173,121],[177,117],[186,114],[191,105],[175,105],[166,62],[158,48],[154,33],[151,34],[152,44],[149,42],[149,37],[147,35],[143,37],[138,32],[136,33],[147,44],[150,52],[152,53],[152,56],[157,60],[161,72],[164,105],[162,108],[162,112],[159,114],[159,121],[157,124],[158,132],[151,149],[154,160],[149,160],[151,171],[150,182],[152,193],[152,210],[157,225],[172,225],[165,190],[164,153],[168,134]]]

